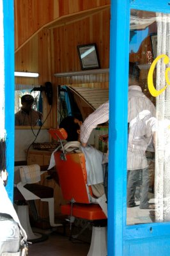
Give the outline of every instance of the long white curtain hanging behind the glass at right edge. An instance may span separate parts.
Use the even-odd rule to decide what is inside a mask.
[[[161,54],[170,58],[170,15],[157,13],[157,56]],[[167,67],[170,67],[169,63],[165,65],[163,59],[158,61],[157,90],[167,84]],[[170,221],[170,86],[157,97],[156,102],[158,129],[155,148],[155,220]]]

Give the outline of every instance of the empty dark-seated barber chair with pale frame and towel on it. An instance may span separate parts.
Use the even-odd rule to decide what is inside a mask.
[[[46,172],[46,171],[45,171]],[[14,188],[14,202],[20,223],[27,233],[27,239],[32,243],[37,243],[47,239],[39,233],[33,232],[29,222],[29,206],[31,211],[38,217],[35,200],[48,202],[49,205],[49,222],[51,227],[58,227],[61,224],[54,223],[54,189],[36,184],[40,181],[40,176],[44,172],[40,172],[38,164],[27,166],[15,166],[15,173],[20,176],[20,182]],[[18,179],[19,180],[19,179]]]

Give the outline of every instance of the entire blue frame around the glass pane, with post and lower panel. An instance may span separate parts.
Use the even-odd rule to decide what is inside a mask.
[[[109,84],[108,254],[169,255],[170,223],[126,225],[130,9],[170,13],[165,0],[112,0]]]

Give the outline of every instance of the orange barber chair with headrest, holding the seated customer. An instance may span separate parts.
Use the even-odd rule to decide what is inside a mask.
[[[66,131],[63,128],[50,129],[49,132],[54,139],[59,139],[61,142],[61,150],[54,153],[54,159],[63,198],[70,201],[70,204],[61,205],[61,213],[70,216],[70,223],[73,222],[74,218],[82,218],[92,223],[97,223],[98,220],[101,220],[101,222],[107,220],[105,195],[101,198],[95,198],[91,186],[87,184],[84,154],[75,149],[75,141],[73,141],[73,147],[71,142],[63,145],[62,140],[67,138]],[[106,255],[107,227],[93,225],[88,256]]]

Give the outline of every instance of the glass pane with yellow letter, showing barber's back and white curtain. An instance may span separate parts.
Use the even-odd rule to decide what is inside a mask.
[[[170,15],[131,10],[127,225],[170,220]]]

